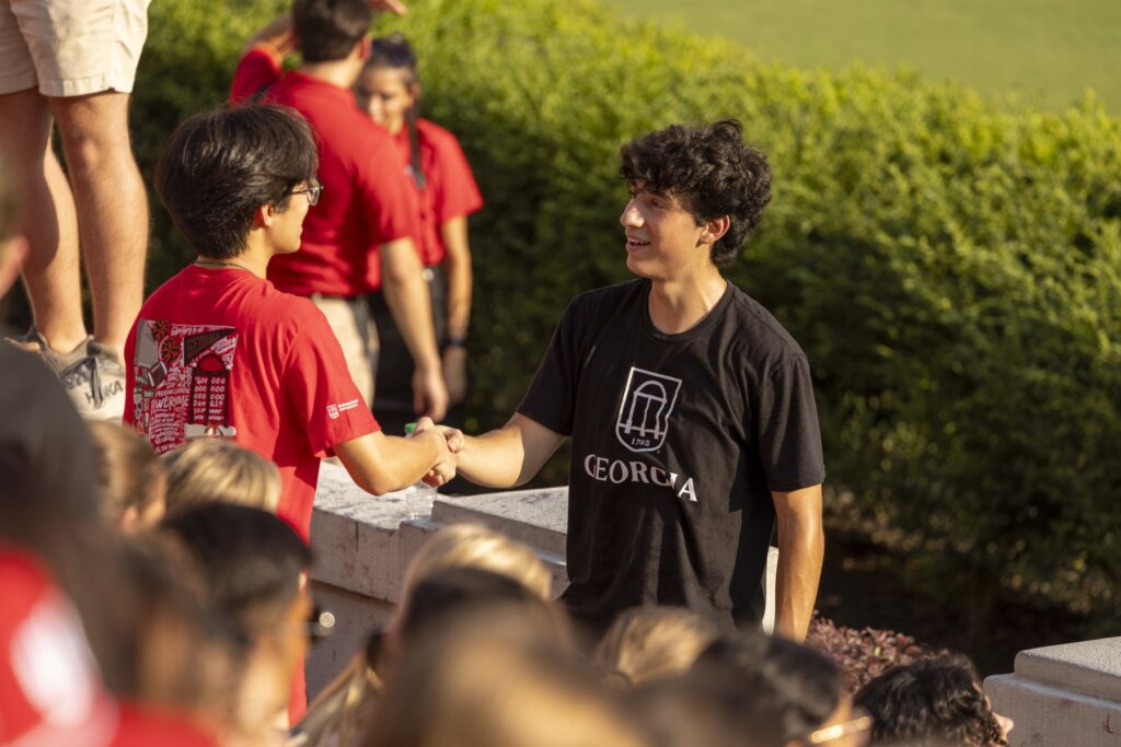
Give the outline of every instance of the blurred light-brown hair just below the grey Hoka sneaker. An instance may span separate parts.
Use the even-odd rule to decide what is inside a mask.
[[[129,508],[143,514],[164,498],[164,465],[147,441],[119,423],[98,420],[86,426],[105,521],[119,525]]]

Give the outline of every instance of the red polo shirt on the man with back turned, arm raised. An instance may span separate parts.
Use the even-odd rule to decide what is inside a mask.
[[[304,221],[300,251],[275,258],[269,280],[299,296],[363,293],[370,246],[419,232],[416,192],[392,139],[358,110],[348,88],[299,72],[281,75],[275,53],[259,46],[238,63],[230,100],[243,101],[263,86],[261,101],[291,106],[312,125],[323,181],[319,204]]]

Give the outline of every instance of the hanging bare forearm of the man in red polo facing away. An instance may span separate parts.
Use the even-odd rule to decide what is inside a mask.
[[[414,364],[423,371],[439,371],[428,283],[424,280],[424,265],[413,240],[391,241],[383,244],[379,253],[386,304]]]

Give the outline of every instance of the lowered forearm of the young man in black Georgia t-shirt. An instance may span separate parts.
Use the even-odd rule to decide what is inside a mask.
[[[775,632],[804,641],[817,599],[817,583],[825,554],[819,495],[817,507],[778,512],[778,569],[775,580]],[[806,497],[814,502],[813,495]]]

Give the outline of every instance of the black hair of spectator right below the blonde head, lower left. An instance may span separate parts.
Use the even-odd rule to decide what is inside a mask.
[[[176,511],[160,529],[191,551],[217,608],[252,634],[262,609],[280,610],[299,595],[312,551],[281,519],[260,508],[209,503]]]

